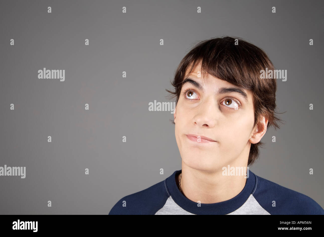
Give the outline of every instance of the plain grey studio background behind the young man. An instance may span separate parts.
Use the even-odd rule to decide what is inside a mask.
[[[169,101],[165,89],[195,42],[225,35],[287,70],[277,80],[286,124],[263,136],[250,170],[324,207],[323,1],[1,0],[0,18],[0,166],[26,167],[25,179],[0,177],[1,214],[108,214],[181,169],[173,114],[148,102]],[[38,79],[44,67],[65,70],[65,81]]]

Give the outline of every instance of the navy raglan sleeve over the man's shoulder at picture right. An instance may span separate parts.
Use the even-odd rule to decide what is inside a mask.
[[[324,215],[323,208],[310,197],[257,175],[252,195],[272,215]]]

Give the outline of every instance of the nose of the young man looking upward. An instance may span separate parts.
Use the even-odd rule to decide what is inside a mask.
[[[216,124],[217,102],[212,98],[205,98],[200,102],[197,113],[192,118],[192,122],[198,126],[214,127]]]

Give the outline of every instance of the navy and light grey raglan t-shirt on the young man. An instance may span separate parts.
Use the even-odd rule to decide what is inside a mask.
[[[232,199],[199,203],[179,190],[175,171],[165,180],[120,199],[109,215],[323,215],[310,197],[255,175],[249,170],[243,190]]]

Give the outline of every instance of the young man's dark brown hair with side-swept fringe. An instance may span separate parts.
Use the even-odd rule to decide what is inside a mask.
[[[235,45],[238,39],[238,45]],[[268,127],[272,126],[275,130],[279,127],[278,118],[274,112],[276,109],[276,79],[260,79],[260,70],[274,70],[274,66],[268,55],[257,46],[247,42],[242,38],[232,38],[225,36],[222,38],[211,38],[200,41],[189,53],[181,60],[175,71],[175,76],[171,85],[175,92],[171,92],[171,98],[176,97],[176,105],[181,92],[182,81],[187,75],[186,70],[191,65],[188,75],[196,65],[201,62],[202,78],[205,72],[230,82],[241,88],[251,90],[254,106],[254,128],[257,127],[261,116],[268,118]],[[174,120],[170,120],[173,124]],[[248,166],[252,165],[260,155],[259,147],[264,148],[263,142],[251,144]]]

